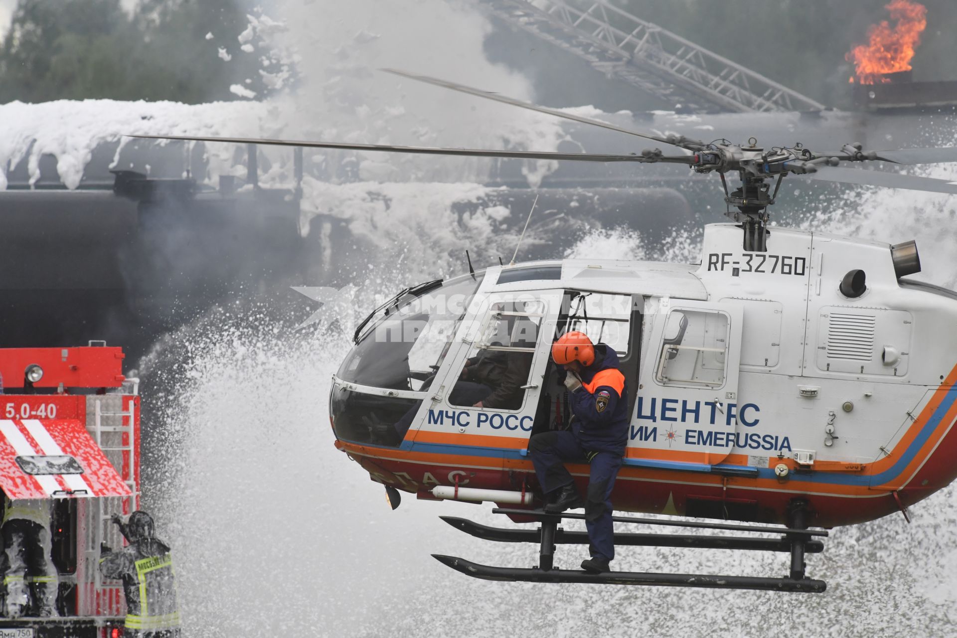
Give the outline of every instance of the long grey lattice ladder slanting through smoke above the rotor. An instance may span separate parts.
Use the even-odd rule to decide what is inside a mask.
[[[590,0],[487,0],[506,22],[587,60],[652,95],[695,112],[820,111],[824,104],[645,22]],[[587,7],[587,9],[583,9]]]

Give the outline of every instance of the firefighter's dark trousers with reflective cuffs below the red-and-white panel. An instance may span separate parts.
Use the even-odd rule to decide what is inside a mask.
[[[59,578],[52,558],[51,501],[11,500],[4,497],[3,568],[4,611],[8,618],[58,616]]]

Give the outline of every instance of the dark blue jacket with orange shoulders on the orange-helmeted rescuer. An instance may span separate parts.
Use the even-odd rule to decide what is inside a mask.
[[[628,389],[618,370],[618,355],[595,345],[595,361],[582,369],[582,387],[569,393],[575,419],[571,431],[589,451],[625,453],[628,444]]]

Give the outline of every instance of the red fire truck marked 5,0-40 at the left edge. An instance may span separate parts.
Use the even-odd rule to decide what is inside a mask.
[[[53,501],[60,614],[0,617],[0,638],[122,636],[122,583],[98,568],[101,545],[123,544],[110,517],[140,500],[139,380],[122,363],[122,349],[100,341],[0,348],[0,489]]]

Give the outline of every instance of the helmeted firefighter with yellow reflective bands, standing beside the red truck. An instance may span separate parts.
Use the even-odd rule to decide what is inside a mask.
[[[179,606],[169,546],[153,533],[153,517],[142,511],[125,523],[114,515],[123,538],[129,543],[113,551],[100,550],[100,572],[120,579],[126,598],[124,636],[176,638],[180,635]]]

